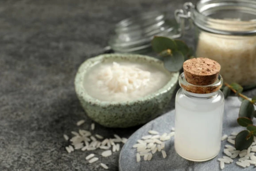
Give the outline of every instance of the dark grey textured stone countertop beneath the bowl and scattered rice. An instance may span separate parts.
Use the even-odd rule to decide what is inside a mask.
[[[68,154],[63,134],[86,117],[75,94],[79,65],[102,53],[114,24],[141,11],[180,8],[183,0],[0,1],[0,170],[103,170],[90,152]],[[194,1],[195,2],[195,1]],[[192,43],[191,36],[185,38]],[[247,91],[256,95],[256,89]],[[170,109],[174,107],[174,101]],[[139,127],[108,129],[104,137],[129,137]],[[100,152],[95,152],[100,154]],[[118,170],[118,152],[100,158]]]

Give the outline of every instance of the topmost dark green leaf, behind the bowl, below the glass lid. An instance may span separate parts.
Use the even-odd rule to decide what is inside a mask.
[[[151,41],[152,48],[155,52],[161,53],[164,50],[171,49],[176,50],[176,43],[167,37],[155,36]]]

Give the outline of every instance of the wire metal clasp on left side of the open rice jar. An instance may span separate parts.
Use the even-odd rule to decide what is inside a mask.
[[[177,23],[179,24],[179,33],[175,36],[175,38],[182,37],[185,30],[189,30],[192,27],[191,21],[191,9],[195,6],[191,2],[186,2],[183,5],[183,9],[175,10],[175,18]]]

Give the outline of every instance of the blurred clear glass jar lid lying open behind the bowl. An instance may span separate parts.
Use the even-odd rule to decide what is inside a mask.
[[[124,19],[115,25],[115,34],[110,38],[109,46],[117,53],[149,52],[154,36],[173,38],[177,34],[175,19],[166,18],[164,13],[154,11]]]

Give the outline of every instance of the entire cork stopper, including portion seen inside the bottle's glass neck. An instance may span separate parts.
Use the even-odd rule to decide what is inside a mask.
[[[221,85],[211,85],[218,79],[220,64],[208,58],[193,58],[183,63],[184,76],[187,82],[193,85],[184,85],[186,91],[192,93],[212,93],[220,89]]]

